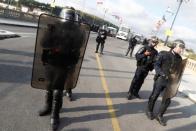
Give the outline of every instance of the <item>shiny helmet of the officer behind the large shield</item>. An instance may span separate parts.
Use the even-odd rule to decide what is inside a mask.
[[[76,11],[73,7],[62,9],[60,17],[64,18],[65,20],[78,22],[78,15],[76,14]]]

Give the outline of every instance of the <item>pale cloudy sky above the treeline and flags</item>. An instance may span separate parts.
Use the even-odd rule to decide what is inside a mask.
[[[54,0],[36,0],[44,3],[51,3]],[[103,1],[102,5],[97,5],[97,0],[55,0],[56,5],[73,6],[76,9],[105,18],[114,24],[119,25],[119,21],[112,17],[116,14],[122,18],[122,23],[128,25],[132,31],[145,36],[152,33],[153,28],[163,15],[166,22],[160,27],[157,36],[165,40],[165,30],[169,29],[174,15],[166,13],[168,7],[170,11],[176,12],[179,0],[98,0]],[[187,1],[187,0],[184,0]],[[104,17],[104,10],[107,13]],[[183,2],[176,21],[173,26],[173,35],[169,38],[174,40],[183,39],[189,48],[196,51],[196,1]]]

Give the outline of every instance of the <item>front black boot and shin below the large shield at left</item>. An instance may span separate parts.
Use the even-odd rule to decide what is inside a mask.
[[[59,112],[63,102],[62,93],[63,91],[61,90],[54,90],[53,92],[53,105],[50,119],[50,124],[53,131],[56,131],[60,124]]]

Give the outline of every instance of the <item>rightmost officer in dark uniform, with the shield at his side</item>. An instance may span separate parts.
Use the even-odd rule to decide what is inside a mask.
[[[177,93],[177,85],[182,74],[182,57],[181,52],[185,48],[182,40],[173,42],[174,48],[170,51],[161,51],[154,65],[156,74],[154,77],[154,87],[152,94],[149,97],[146,115],[152,120],[154,119],[153,108],[154,104],[162,91],[164,92],[162,103],[159,108],[156,120],[163,126],[166,126],[166,121],[163,119],[163,114],[167,110],[171,97]],[[185,64],[184,64],[185,65]],[[173,95],[172,95],[173,94]]]

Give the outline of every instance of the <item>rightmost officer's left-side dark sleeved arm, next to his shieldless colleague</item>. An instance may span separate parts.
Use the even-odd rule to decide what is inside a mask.
[[[162,65],[162,61],[163,61],[163,54],[162,52],[160,52],[158,54],[158,56],[156,57],[155,63],[154,63],[154,69],[156,74],[160,75],[160,76],[164,76],[164,72],[161,69],[161,65]]]

